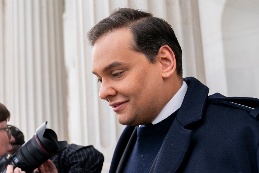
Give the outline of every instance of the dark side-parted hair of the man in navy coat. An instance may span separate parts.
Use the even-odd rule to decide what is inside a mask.
[[[148,61],[156,62],[158,50],[168,45],[176,57],[176,70],[182,76],[182,49],[171,25],[161,18],[154,17],[150,12],[132,8],[119,8],[98,22],[88,32],[91,46],[103,35],[115,29],[128,28],[134,37],[132,48],[146,55]]]

